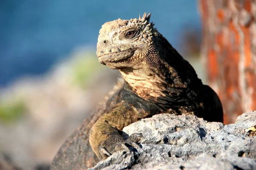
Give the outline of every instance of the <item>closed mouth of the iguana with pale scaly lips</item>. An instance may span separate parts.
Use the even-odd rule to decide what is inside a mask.
[[[134,50],[128,49],[98,56],[99,62],[105,64],[105,62],[119,62],[120,60],[131,57],[134,54]]]

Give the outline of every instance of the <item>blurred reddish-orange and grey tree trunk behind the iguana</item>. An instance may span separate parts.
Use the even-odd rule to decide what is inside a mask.
[[[199,0],[201,54],[224,123],[256,110],[256,0]]]

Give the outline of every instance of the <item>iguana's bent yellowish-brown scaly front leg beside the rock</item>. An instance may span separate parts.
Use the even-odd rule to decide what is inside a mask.
[[[108,154],[102,153],[102,148],[108,153],[114,153],[118,145],[125,141],[122,137],[123,127],[147,116],[132,106],[117,105],[102,115],[93,125],[89,142],[93,152],[100,160],[106,159]],[[117,146],[117,147],[116,147]]]

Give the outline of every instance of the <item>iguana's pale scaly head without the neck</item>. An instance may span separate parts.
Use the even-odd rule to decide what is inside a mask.
[[[141,67],[148,53],[157,52],[154,50],[157,30],[149,22],[150,15],[144,13],[139,19],[118,19],[102,25],[96,53],[99,62],[113,69]]]

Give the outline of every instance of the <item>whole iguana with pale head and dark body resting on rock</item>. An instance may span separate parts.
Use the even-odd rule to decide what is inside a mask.
[[[154,28],[150,16],[102,25],[97,57],[101,64],[118,69],[123,79],[62,145],[52,170],[87,169],[116,150],[138,147],[140,134],[124,139],[122,129],[154,114],[193,114],[223,122],[217,94]]]

